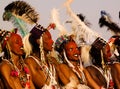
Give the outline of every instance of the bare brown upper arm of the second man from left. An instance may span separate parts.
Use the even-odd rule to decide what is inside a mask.
[[[29,67],[32,75],[32,80],[37,87],[41,88],[45,83],[48,84],[43,70],[32,57],[26,58],[25,63]]]

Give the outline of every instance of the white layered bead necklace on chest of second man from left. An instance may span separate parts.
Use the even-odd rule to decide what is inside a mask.
[[[57,82],[55,80],[56,78],[56,71],[55,71],[55,67],[53,65],[51,65],[49,63],[49,68],[46,64],[44,63],[41,63],[38,59],[36,59],[34,56],[29,56],[29,57],[32,57],[36,62],[37,64],[40,66],[40,68],[42,69],[44,75],[46,76],[46,80],[45,82],[48,80],[48,78],[50,78],[50,83],[49,85],[44,85],[42,87],[42,89],[60,89],[58,86],[57,86]],[[54,87],[54,88],[53,88]]]

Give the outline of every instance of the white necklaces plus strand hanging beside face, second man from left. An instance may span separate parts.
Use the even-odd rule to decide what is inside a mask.
[[[59,89],[56,87],[57,82],[56,82],[55,67],[54,67],[54,65],[52,65],[49,62],[49,57],[47,57],[48,58],[47,62],[45,60],[42,36],[40,37],[40,47],[39,48],[40,48],[40,58],[37,59],[34,56],[29,56],[29,57],[32,57],[37,62],[37,64],[40,66],[41,70],[44,72],[44,75],[46,77],[45,82],[47,82],[47,80],[50,79],[49,85],[45,84],[42,89]]]

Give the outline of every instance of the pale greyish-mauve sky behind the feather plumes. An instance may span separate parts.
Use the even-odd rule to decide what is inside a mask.
[[[13,28],[11,22],[3,21],[2,14],[6,5],[16,0],[0,0],[0,29],[10,30]],[[60,10],[61,22],[68,19],[66,9],[63,3],[66,0],[23,0],[29,3],[39,14],[39,24],[47,27],[50,23],[51,10],[57,8]],[[119,11],[120,0],[73,0],[71,4],[72,10],[78,14],[82,13],[86,19],[91,23],[91,29],[98,32],[103,38],[109,39],[111,33],[107,31],[106,27],[100,28],[98,21],[100,18],[100,11],[107,11],[112,20],[120,25]],[[69,31],[69,29],[67,29]],[[58,35],[58,31],[51,31],[53,39]]]

